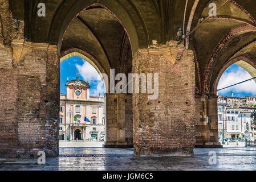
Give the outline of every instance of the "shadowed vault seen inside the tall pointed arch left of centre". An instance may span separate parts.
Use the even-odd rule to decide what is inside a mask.
[[[64,33],[61,52],[79,48],[100,60],[105,72],[132,71],[132,51],[127,32],[118,19],[100,6],[76,16]]]

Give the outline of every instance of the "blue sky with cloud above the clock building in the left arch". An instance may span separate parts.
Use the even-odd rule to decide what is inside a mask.
[[[87,61],[80,57],[74,56],[60,63],[60,94],[66,94],[67,78],[69,81],[75,80],[89,81],[91,86],[90,96],[104,96],[104,85],[99,73]]]

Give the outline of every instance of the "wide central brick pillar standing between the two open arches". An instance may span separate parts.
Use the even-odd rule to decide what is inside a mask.
[[[148,100],[148,94],[133,94],[135,155],[193,154],[196,113],[193,52],[179,47],[180,59],[173,64],[163,56],[168,49],[139,50],[133,59],[133,73],[159,73],[157,100]]]

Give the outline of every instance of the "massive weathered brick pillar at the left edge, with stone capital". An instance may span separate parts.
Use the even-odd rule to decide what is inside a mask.
[[[58,155],[59,55],[56,46],[24,40],[9,1],[0,1],[0,156]]]

